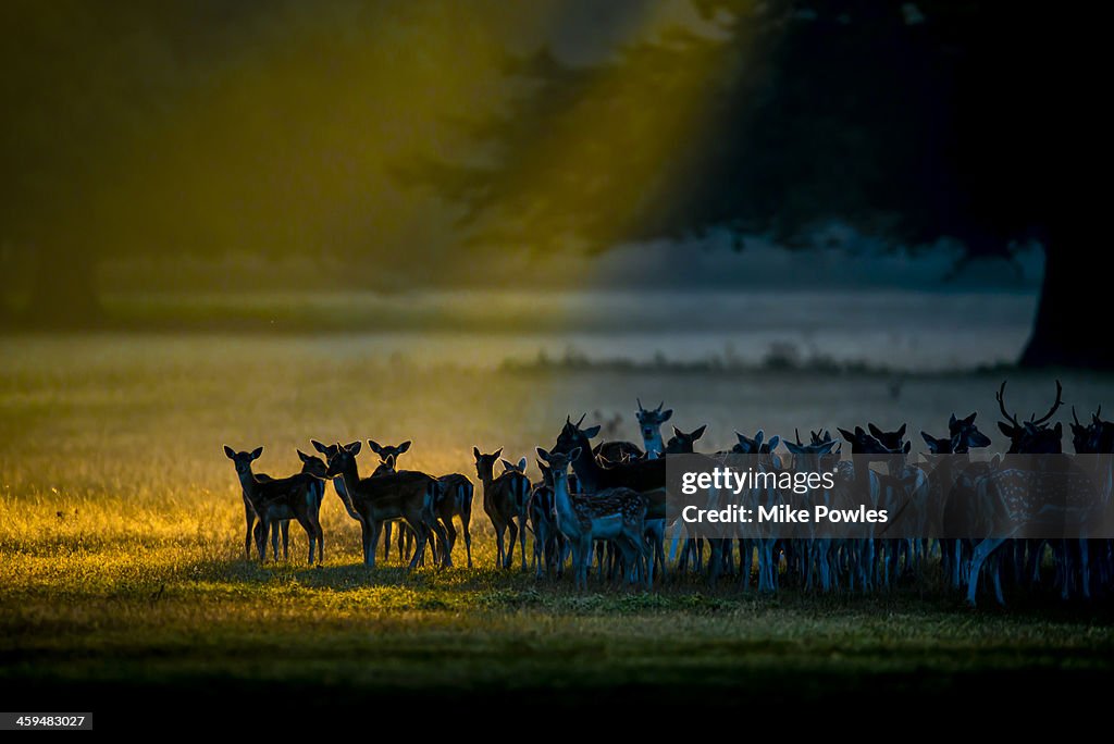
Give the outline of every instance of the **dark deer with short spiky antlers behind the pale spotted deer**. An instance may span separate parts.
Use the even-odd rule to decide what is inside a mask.
[[[658,407],[661,408],[661,407]],[[672,413],[672,411],[671,411]],[[665,460],[655,458],[637,460],[628,464],[618,464],[612,468],[602,467],[592,456],[589,440],[599,433],[599,427],[582,429],[585,417],[573,423],[571,417],[565,417],[565,425],[557,435],[557,443],[554,444],[554,452],[568,454],[574,449],[578,450],[577,457],[569,458],[569,462],[576,473],[580,491],[586,496],[594,496],[599,491],[610,488],[629,488],[643,493],[649,500],[646,511],[645,527],[646,539],[653,546],[653,559],[649,572],[654,572],[655,567],[662,567],[664,574],[665,566]]]

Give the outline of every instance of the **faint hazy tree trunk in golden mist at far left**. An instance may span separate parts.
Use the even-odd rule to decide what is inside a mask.
[[[97,296],[96,267],[94,257],[84,252],[42,251],[35,270],[25,324],[57,329],[99,325],[104,311]]]

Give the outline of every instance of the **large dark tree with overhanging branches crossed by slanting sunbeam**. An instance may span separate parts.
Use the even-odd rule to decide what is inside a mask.
[[[460,205],[479,242],[538,247],[714,229],[814,243],[832,222],[961,261],[1046,254],[1020,362],[1114,366],[1084,319],[1108,282],[1078,265],[1101,213],[1102,46],[1086,11],[944,0],[698,3],[677,31],[590,67],[510,60],[502,116],[465,126],[485,157],[398,167]],[[1073,261],[1074,260],[1074,261]]]

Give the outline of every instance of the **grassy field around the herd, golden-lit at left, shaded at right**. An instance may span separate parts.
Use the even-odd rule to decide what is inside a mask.
[[[575,593],[495,570],[479,499],[472,570],[364,569],[359,529],[332,491],[323,567],[305,566],[296,526],[290,564],[246,562],[240,487],[221,451],[264,444],[260,469],[285,474],[311,437],[412,439],[407,467],[475,479],[472,444],[517,459],[550,446],[566,413],[620,413],[620,434],[634,438],[635,395],[664,398],[685,430],[709,423],[709,447],[733,429],[868,419],[908,421],[919,443],[915,432],[936,433],[952,410],[979,410],[1000,443],[997,378],[913,378],[893,398],[870,375],[510,374],[382,360],[359,336],[22,336],[0,340],[0,358],[8,709],[91,699],[150,712],[183,695],[214,706],[296,695],[315,707],[374,694],[467,712],[496,694],[713,705],[1032,695],[1034,685],[1077,702],[1111,679],[1103,604],[1012,597],[1007,610],[968,610],[930,583],[869,598],[758,598],[695,579]],[[1106,378],[1064,385],[1084,410],[1114,398]],[[1044,410],[1051,388],[1048,376],[1016,376],[1010,400]]]

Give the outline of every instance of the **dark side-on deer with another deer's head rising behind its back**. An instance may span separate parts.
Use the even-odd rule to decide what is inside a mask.
[[[328,478],[340,476],[344,479],[345,509],[350,515],[358,515],[356,520],[363,536],[363,562],[368,568],[375,567],[375,545],[384,521],[402,519],[418,537],[410,568],[418,566],[419,559],[429,541],[430,532],[437,536],[442,546],[448,546],[448,537],[433,513],[440,486],[438,481],[426,473],[401,471],[387,472],[370,478],[361,478],[355,457],[360,453],[361,442],[355,441],[345,447],[336,443],[335,453],[329,459]],[[393,466],[393,458],[392,463]],[[442,550],[441,567],[452,566],[452,556],[448,549]]]

